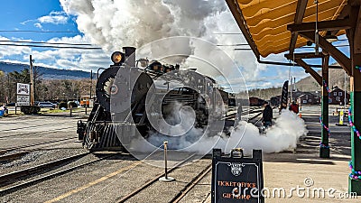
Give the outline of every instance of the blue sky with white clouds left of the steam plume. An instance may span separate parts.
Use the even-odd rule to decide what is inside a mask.
[[[0,23],[2,41],[89,43],[84,38],[84,33],[78,30],[76,16],[66,14],[58,0],[0,0],[0,2],[2,5],[0,18],[3,19]],[[88,62],[84,61],[84,55],[90,53],[93,53],[93,56],[89,57]],[[1,61],[28,63],[29,55],[32,55],[35,65],[58,69],[90,71],[109,63],[108,61],[100,64],[90,62],[94,58],[104,60],[106,57],[104,51],[0,46]]]

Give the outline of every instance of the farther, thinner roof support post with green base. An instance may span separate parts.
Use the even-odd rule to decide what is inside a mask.
[[[322,59],[321,143],[319,157],[329,158],[329,55]]]

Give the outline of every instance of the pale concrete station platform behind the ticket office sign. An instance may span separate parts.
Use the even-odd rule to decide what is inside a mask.
[[[265,202],[359,202],[361,197],[347,192],[350,130],[349,126],[336,125],[338,116],[332,115],[336,107],[329,106],[329,159],[319,158],[320,106],[302,106],[309,133],[301,137],[294,152],[264,154]],[[210,181],[208,174],[182,202],[211,202]],[[284,195],[278,192],[282,190]]]

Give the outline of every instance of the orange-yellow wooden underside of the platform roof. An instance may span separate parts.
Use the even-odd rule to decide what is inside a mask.
[[[255,56],[267,57],[306,45],[301,36],[292,36],[288,24],[316,21],[314,0],[226,0],[236,23]],[[318,21],[338,19],[347,0],[319,0]],[[336,35],[344,34],[341,30]],[[320,32],[324,36],[326,32]],[[293,34],[294,35],[294,34]],[[292,45],[292,38],[295,41]],[[297,39],[297,40],[296,40]]]

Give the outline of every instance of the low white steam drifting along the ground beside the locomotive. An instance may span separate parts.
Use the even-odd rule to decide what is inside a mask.
[[[186,109],[187,110],[187,109]],[[174,109],[175,114],[167,118],[168,121],[179,122],[179,117],[189,117],[194,115],[186,110],[180,111],[180,106]],[[190,110],[190,108],[188,108]],[[180,115],[178,114],[180,113]],[[191,118],[190,120],[194,120]],[[169,125],[166,130],[171,134],[179,134],[180,129],[189,129],[189,122],[181,123],[183,128],[172,128]],[[230,136],[225,134],[208,136],[201,128],[191,128],[186,134],[181,136],[165,136],[159,133],[152,133],[144,143],[143,139],[134,140],[131,148],[139,149],[143,152],[153,152],[154,149],[162,145],[163,141],[168,141],[171,150],[180,152],[199,152],[206,154],[211,152],[213,148],[220,148],[223,152],[230,152],[234,148],[243,148],[245,154],[252,154],[253,149],[261,149],[265,153],[292,151],[296,149],[297,142],[302,135],[308,133],[304,121],[296,114],[289,110],[282,110],[282,114],[278,117],[274,125],[260,133],[259,129],[250,123],[241,121],[236,129],[233,129]]]

